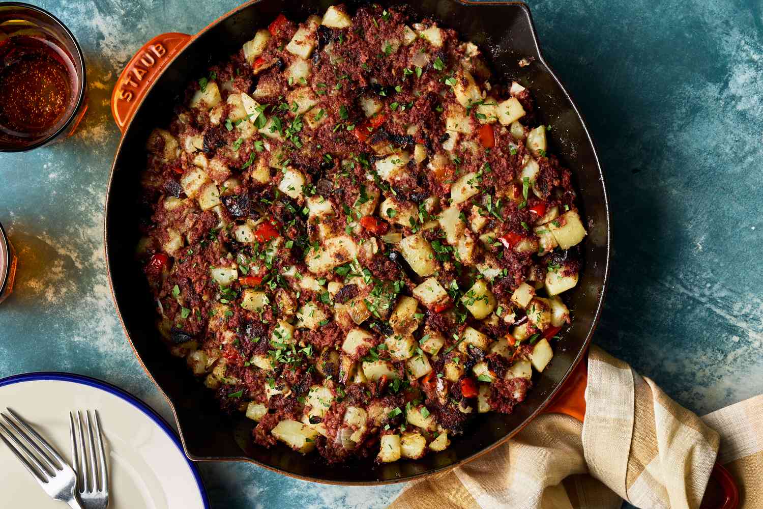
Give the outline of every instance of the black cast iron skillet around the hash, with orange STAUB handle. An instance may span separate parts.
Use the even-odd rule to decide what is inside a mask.
[[[298,478],[343,485],[409,481],[473,459],[503,443],[549,405],[583,358],[604,299],[610,254],[607,192],[594,144],[574,102],[540,53],[530,9],[519,2],[423,0],[408,5],[420,18],[435,18],[459,31],[462,40],[478,43],[490,56],[494,76],[517,80],[531,89],[543,124],[553,126],[549,150],[575,176],[578,203],[587,221],[582,243],[584,267],[574,291],[568,292],[572,324],[562,330],[550,366],[535,379],[526,401],[510,415],[481,415],[449,449],[415,461],[382,466],[372,459],[358,465],[327,466],[318,455],[302,456],[285,446],[270,449],[251,440],[253,423],[228,417],[188,372],[185,362],[169,355],[154,327],[150,291],[134,260],[140,237],[136,197],[146,165],[144,144],[150,130],[169,124],[172,105],[195,76],[213,62],[225,60],[281,12],[301,21],[322,14],[330,1],[298,5],[283,0],[249,2],[214,21],[193,37],[163,34],[140,50],[123,72],[112,97],[114,118],[124,132],[108,187],[105,217],[106,259],[111,289],[124,330],[146,372],[166,395],[188,457],[195,460],[242,460]],[[352,11],[357,4],[344,2]],[[530,65],[521,66],[526,59]],[[577,386],[578,399],[584,376]],[[559,404],[555,405],[557,410]],[[579,409],[578,409],[579,410]],[[575,415],[575,411],[571,414]],[[581,418],[580,411],[577,417]]]

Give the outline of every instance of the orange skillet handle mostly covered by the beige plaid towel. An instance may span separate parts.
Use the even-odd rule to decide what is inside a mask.
[[[544,410],[544,414],[565,414],[583,422],[585,417],[585,388],[588,385],[588,354],[572,370],[559,393]],[[720,463],[713,466],[700,509],[737,509],[739,488],[728,470]]]

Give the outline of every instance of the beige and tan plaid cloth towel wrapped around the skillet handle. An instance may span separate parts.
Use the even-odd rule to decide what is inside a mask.
[[[592,346],[585,398],[584,423],[536,417],[491,453],[410,483],[391,509],[699,507],[716,456],[739,507],[763,507],[763,396],[700,419]]]

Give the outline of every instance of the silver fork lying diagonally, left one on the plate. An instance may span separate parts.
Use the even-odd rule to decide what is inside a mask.
[[[51,498],[66,502],[72,509],[83,509],[76,497],[77,476],[72,467],[67,465],[56,449],[40,437],[40,433],[27,424],[19,414],[10,408],[5,410],[13,418],[2,412],[0,416],[15,432],[11,432],[5,424],[0,422],[0,428],[2,428],[0,438],[5,445],[21,460],[24,467]],[[34,453],[29,450],[30,448],[34,449]]]

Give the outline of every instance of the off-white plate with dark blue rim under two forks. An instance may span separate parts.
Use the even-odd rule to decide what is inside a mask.
[[[29,373],[0,379],[0,411],[12,408],[71,462],[69,411],[98,409],[109,459],[109,509],[206,509],[195,465],[166,422],[114,385],[68,373]],[[2,507],[66,507],[44,494],[21,462],[0,443]]]

